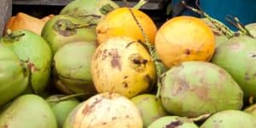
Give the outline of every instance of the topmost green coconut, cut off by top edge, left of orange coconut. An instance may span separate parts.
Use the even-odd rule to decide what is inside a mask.
[[[61,10],[61,15],[70,15],[90,24],[97,24],[102,16],[119,8],[111,0],[74,0]]]

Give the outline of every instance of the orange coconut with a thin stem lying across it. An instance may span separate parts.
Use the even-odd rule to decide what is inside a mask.
[[[139,24],[143,27],[143,31],[148,36],[149,42],[154,44],[154,38],[157,32],[154,21],[141,10],[131,9],[131,11],[136,16]],[[139,26],[137,26],[136,20],[134,20],[131,15],[131,11],[129,8],[119,8],[108,13],[96,26],[97,42],[102,44],[102,42],[106,42],[108,38],[119,36],[145,41],[143,33]]]

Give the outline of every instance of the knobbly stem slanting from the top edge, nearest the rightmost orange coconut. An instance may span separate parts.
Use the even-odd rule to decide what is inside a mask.
[[[207,20],[210,20],[212,22],[212,24],[214,26],[216,26],[216,28],[218,28],[218,30],[220,32],[222,32],[227,38],[232,38],[235,36],[235,32],[233,32],[232,30],[230,30],[230,28],[228,26],[225,26],[222,22],[212,18],[210,15],[207,15],[207,13],[205,13],[204,11],[202,10],[199,10],[199,9],[195,9],[189,5],[187,5],[184,1],[182,1],[182,3],[184,4],[184,6],[187,8],[187,9],[190,9],[192,10],[193,12],[195,12],[196,14],[198,15],[202,15],[204,17],[207,18]]]

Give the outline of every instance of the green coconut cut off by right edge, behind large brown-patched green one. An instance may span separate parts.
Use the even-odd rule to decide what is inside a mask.
[[[256,39],[230,38],[216,49],[212,63],[230,73],[241,86],[245,98],[256,96]]]

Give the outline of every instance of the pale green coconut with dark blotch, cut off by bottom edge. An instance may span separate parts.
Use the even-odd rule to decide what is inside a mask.
[[[148,128],[198,128],[193,121],[178,116],[165,116],[156,119]]]

